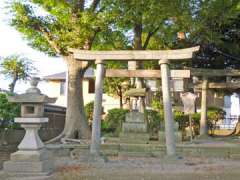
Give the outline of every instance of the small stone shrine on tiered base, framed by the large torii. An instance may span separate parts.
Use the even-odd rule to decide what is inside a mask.
[[[134,97],[135,100],[145,97],[146,89],[130,89],[126,92],[126,96]],[[122,124],[122,132],[120,133],[121,143],[147,144],[149,142],[149,134],[147,122],[144,120],[144,113],[139,112],[137,102],[134,104],[131,112],[126,114],[125,122]]]

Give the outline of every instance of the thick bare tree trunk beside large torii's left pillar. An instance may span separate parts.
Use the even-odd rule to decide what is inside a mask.
[[[67,138],[89,138],[90,130],[84,111],[83,76],[81,61],[72,55],[64,58],[68,67],[67,112],[63,134]]]

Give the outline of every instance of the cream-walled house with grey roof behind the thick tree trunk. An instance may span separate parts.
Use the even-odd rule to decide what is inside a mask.
[[[95,92],[95,74],[93,68],[88,68],[84,74],[83,79],[83,97],[84,104],[94,101]],[[52,74],[45,76],[47,81],[46,95],[49,97],[57,97],[55,105],[67,106],[67,86],[66,86],[66,72]],[[107,112],[109,109],[119,108],[119,99],[103,94],[103,108]]]

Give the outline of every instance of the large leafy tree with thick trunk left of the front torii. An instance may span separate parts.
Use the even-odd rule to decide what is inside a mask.
[[[31,47],[52,56],[62,56],[68,67],[66,121],[60,137],[89,137],[83,103],[82,80],[90,62],[76,61],[69,48],[94,49],[103,32],[111,32],[101,13],[100,0],[14,1],[11,25]],[[105,36],[107,37],[107,36]],[[102,41],[101,41],[102,42]],[[96,47],[97,48],[97,47]]]

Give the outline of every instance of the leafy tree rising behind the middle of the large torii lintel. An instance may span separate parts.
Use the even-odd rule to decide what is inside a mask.
[[[159,0],[105,0],[105,10],[111,14],[113,27],[120,29],[128,39],[127,49],[169,49],[178,31],[183,30],[180,23],[188,19],[187,3],[183,1]],[[183,13],[184,12],[184,13]],[[176,17],[179,19],[176,21]],[[129,69],[159,69],[158,62],[129,62]],[[133,78],[131,86],[145,86],[142,78]],[[114,83],[113,81],[110,81]],[[114,87],[114,86],[113,86]],[[119,86],[120,87],[120,86]],[[144,101],[141,106],[144,107]]]

